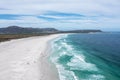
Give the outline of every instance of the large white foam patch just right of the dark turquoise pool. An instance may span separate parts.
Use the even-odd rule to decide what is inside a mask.
[[[71,70],[98,71],[94,64],[86,62],[84,57],[78,55],[74,56],[67,65]]]

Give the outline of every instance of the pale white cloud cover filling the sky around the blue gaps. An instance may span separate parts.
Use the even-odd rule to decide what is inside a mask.
[[[35,16],[43,15],[46,11],[58,11],[65,13],[77,13],[86,15],[88,18],[80,20],[66,20],[47,22]],[[34,24],[38,26],[101,26],[108,27],[120,25],[120,1],[119,0],[0,0],[0,14],[19,14],[19,15],[34,15],[22,16],[17,20],[0,20],[0,26],[6,24]],[[96,16],[96,18],[90,18]],[[62,19],[63,17],[49,15],[47,17]],[[62,23],[63,22],[63,23]],[[66,22],[66,23],[65,23]],[[71,23],[69,23],[71,22]],[[29,23],[29,24],[28,24]],[[36,24],[35,24],[36,23]],[[78,24],[79,23],[79,24]],[[55,25],[56,24],[56,25]],[[87,25],[86,25],[87,24]],[[89,25],[88,25],[89,24]],[[59,25],[59,26],[58,26]],[[114,27],[115,27],[114,26]]]

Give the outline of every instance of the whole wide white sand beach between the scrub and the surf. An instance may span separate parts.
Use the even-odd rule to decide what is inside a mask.
[[[47,42],[58,36],[30,37],[0,43],[0,80],[58,80],[46,53]]]

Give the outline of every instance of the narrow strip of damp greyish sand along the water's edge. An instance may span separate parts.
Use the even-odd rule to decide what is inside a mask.
[[[41,70],[43,70],[42,72],[44,72],[44,74],[47,76],[43,77],[41,80],[60,80],[58,70],[57,70],[55,64],[50,61],[50,55],[52,54],[51,50],[52,50],[53,41],[55,39],[61,37],[62,35],[63,34],[60,34],[59,36],[57,36],[47,42],[46,48],[44,50],[45,55],[44,55],[44,57],[42,57],[43,58],[42,63],[44,63],[44,65],[48,66],[48,67],[47,67],[47,69],[44,69],[45,67],[43,65],[43,67],[41,69]]]

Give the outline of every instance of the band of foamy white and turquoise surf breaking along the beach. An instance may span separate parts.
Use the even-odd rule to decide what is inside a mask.
[[[68,35],[53,43],[51,61],[55,64],[60,80],[104,80],[97,66],[87,62],[82,50],[77,50],[68,41]],[[76,73],[76,71],[78,73]],[[85,72],[85,73],[82,73]],[[96,73],[94,73],[96,72]],[[82,75],[79,75],[82,73]]]

